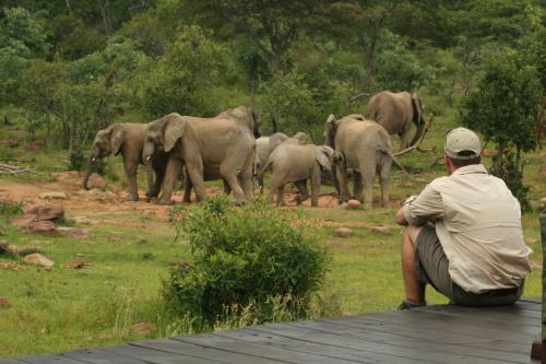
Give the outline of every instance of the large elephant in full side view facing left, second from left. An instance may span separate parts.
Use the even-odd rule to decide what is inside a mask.
[[[257,115],[246,107],[229,109],[212,118],[171,113],[152,121],[144,144],[144,160],[155,150],[168,153],[158,202],[171,203],[176,176],[183,166],[191,181],[186,188],[195,189],[198,201],[206,197],[206,175],[224,178],[237,204],[252,200],[254,137],[260,137],[259,122]]]

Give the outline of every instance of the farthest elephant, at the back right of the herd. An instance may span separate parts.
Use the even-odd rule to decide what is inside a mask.
[[[389,134],[397,134],[400,150],[416,143],[425,128],[423,104],[416,93],[381,91],[370,98],[366,118],[382,125]],[[412,124],[417,129],[410,141]]]

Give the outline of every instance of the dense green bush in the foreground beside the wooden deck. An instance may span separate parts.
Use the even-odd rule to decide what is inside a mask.
[[[329,259],[324,246],[292,218],[262,200],[234,207],[226,196],[192,208],[181,226],[193,261],[165,282],[171,307],[191,317],[195,331],[218,322],[309,317]]]

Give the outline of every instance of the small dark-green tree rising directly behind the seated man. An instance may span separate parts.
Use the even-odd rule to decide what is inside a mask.
[[[476,89],[463,99],[461,108],[463,122],[497,144],[491,172],[506,178],[522,206],[529,203],[522,184],[521,153],[534,148],[533,127],[541,97],[536,67],[508,49],[486,62]]]

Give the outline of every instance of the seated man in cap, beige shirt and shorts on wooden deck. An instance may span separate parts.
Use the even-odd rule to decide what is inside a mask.
[[[456,128],[446,138],[450,175],[432,180],[396,213],[404,225],[400,309],[425,306],[431,284],[455,305],[502,306],[523,293],[531,272],[520,203],[480,164],[478,137]]]

